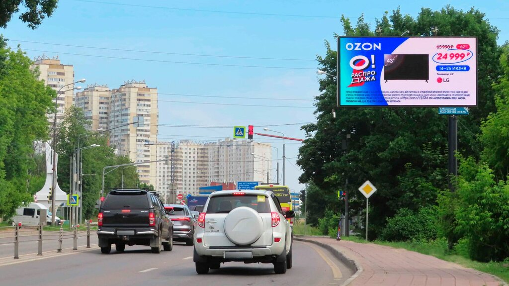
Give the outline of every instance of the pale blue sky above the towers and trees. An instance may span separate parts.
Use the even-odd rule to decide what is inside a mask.
[[[486,14],[492,25],[499,28],[498,43],[502,44],[509,40],[509,30],[506,28],[509,23],[509,17],[506,15],[506,11],[509,11],[509,2],[505,0],[483,2],[464,0],[447,3],[393,0],[367,2],[60,0],[59,8],[53,16],[45,19],[35,31],[26,27],[15,16],[6,29],[0,29],[0,33],[12,40],[11,47],[21,44],[21,48],[31,49],[26,51],[31,58],[43,53],[48,56],[59,55],[62,63],[74,65],[75,77],[87,78],[88,84],[107,83],[110,88],[117,88],[125,80],[146,80],[150,87],[157,87],[161,93],[158,104],[159,124],[282,125],[315,121],[312,100],[318,94],[319,85],[318,76],[315,73],[318,63],[314,60],[317,54],[325,53],[324,40],[334,42],[333,33],[342,34],[343,27],[339,20],[341,15],[349,17],[352,23],[355,23],[357,17],[364,13],[366,22],[374,26],[375,18],[380,18],[384,11],[390,13],[398,6],[401,7],[403,14],[416,16],[424,5],[426,8],[439,10],[445,4],[462,10],[468,10],[471,7],[479,9]],[[437,25],[440,27],[440,23]],[[101,50],[15,40],[163,53]],[[221,65],[236,65],[236,67]],[[245,67],[238,67],[239,65]],[[263,66],[264,68],[246,66]],[[191,97],[175,94],[251,99]],[[278,100],[252,99],[257,97]],[[255,128],[254,132],[263,133],[262,128]],[[271,128],[284,132],[289,137],[304,138],[300,125]],[[215,141],[231,137],[232,133],[233,128],[161,126],[159,140]],[[255,140],[270,142],[279,148],[279,156],[282,156],[282,140],[256,135]],[[301,171],[295,163],[299,146],[300,143],[297,141],[287,141],[286,153],[289,159],[286,167],[286,183],[294,190],[303,188],[303,185],[298,183]],[[273,159],[276,159],[276,152],[273,153]],[[273,167],[275,168],[275,163]]]

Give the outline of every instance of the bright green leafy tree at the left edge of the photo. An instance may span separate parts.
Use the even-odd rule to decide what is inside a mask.
[[[0,38],[0,217],[32,200],[34,141],[48,135],[46,112],[55,92],[37,79],[31,63]]]

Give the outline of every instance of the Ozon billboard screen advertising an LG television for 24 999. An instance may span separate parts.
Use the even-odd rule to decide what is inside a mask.
[[[340,106],[476,106],[477,39],[339,37]]]

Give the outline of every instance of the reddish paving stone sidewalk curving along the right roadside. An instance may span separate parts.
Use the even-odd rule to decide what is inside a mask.
[[[355,262],[361,271],[354,274],[349,286],[499,286],[507,285],[499,278],[401,248],[373,243],[336,241],[325,237],[301,237],[303,240],[329,245],[348,260]]]

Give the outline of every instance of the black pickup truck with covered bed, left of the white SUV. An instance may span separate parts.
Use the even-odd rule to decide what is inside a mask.
[[[150,245],[152,253],[173,249],[173,223],[159,197],[146,190],[110,191],[99,208],[97,235],[102,253],[126,245]]]

